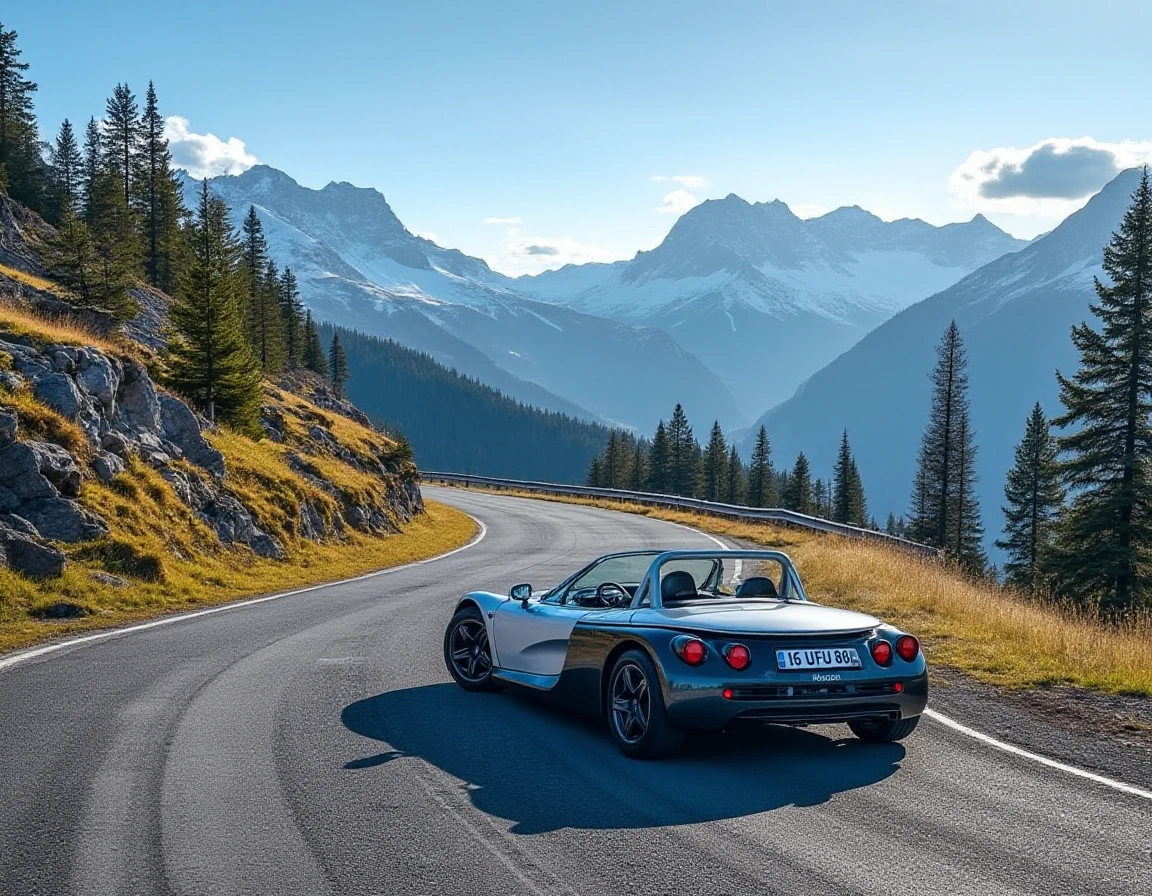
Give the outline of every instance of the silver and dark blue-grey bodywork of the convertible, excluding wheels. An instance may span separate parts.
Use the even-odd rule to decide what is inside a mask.
[[[659,603],[661,559],[722,553],[658,555],[636,586],[634,605],[646,595],[654,595],[652,603]],[[867,614],[809,601],[790,560],[780,552],[730,553],[734,560],[737,554],[745,559],[783,557],[785,575],[794,579],[794,598],[592,609],[550,602],[560,591],[554,589],[533,592],[523,602],[472,592],[461,603],[475,603],[485,617],[497,678],[592,715],[605,712],[612,667],[631,648],[652,659],[668,721],[679,728],[908,719],[924,711],[929,684],[923,652],[910,662],[894,655],[889,666],[881,667],[870,651],[877,639],[894,645],[904,632]],[[736,564],[732,568],[738,569]],[[706,646],[699,666],[689,666],[674,650],[674,641],[685,636],[699,638]],[[752,658],[750,666],[738,671],[723,659],[725,650],[734,643],[745,646]],[[858,669],[780,669],[775,652],[789,647],[854,647],[862,665]]]

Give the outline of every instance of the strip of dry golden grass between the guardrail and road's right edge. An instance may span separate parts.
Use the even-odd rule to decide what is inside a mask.
[[[915,632],[931,662],[980,681],[1008,688],[1070,684],[1152,696],[1152,624],[1146,618],[1123,628],[1107,625],[874,542],[639,504],[571,502],[643,514],[787,550],[812,600],[863,610]]]

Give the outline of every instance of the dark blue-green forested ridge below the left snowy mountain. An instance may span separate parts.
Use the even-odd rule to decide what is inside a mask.
[[[412,443],[422,469],[577,483],[608,430],[521,404],[392,340],[339,333],[348,357],[348,397],[376,423]]]

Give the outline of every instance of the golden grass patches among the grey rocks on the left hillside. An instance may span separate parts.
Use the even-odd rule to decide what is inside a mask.
[[[41,342],[98,343],[112,352],[126,346],[93,339],[67,324],[50,321],[12,309],[0,309],[0,324]],[[0,354],[0,364],[10,362]],[[162,613],[219,603],[236,598],[282,591],[355,576],[373,569],[429,557],[465,544],[476,525],[458,510],[429,503],[427,514],[402,526],[394,536],[370,536],[347,530],[342,540],[313,544],[295,533],[301,500],[311,501],[331,519],[336,502],[326,492],[289,469],[286,455],[300,450],[308,428],[324,426],[355,454],[387,455],[395,445],[382,434],[359,426],[305,400],[271,387],[266,400],[279,407],[287,442],[253,442],[221,430],[210,436],[225,454],[230,491],[257,517],[259,525],[280,539],[288,560],[262,560],[247,548],[229,548],[189,510],[172,487],[141,463],[112,483],[84,481],[81,501],[108,522],[108,538],[65,546],[70,564],[56,580],[33,583],[0,569],[0,651],[26,646],[75,631],[104,628]],[[0,405],[17,408],[20,438],[43,439],[68,447],[81,457],[89,453],[74,423],[40,404],[26,390],[0,389]],[[362,496],[378,495],[381,483],[336,457],[306,457],[323,478]],[[185,466],[188,472],[195,468]],[[115,586],[91,578],[112,572],[128,579]],[[54,603],[67,602],[86,615],[67,621],[44,618]]]

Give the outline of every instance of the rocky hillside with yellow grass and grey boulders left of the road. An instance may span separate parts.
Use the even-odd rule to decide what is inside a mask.
[[[14,548],[39,552],[59,570],[31,576],[0,563],[0,651],[358,575],[442,553],[475,533],[467,515],[423,506],[407,448],[357,419],[319,378],[298,374],[288,382],[305,394],[265,382],[267,435],[253,441],[227,427],[166,428],[180,413],[195,418],[147,380],[141,364],[147,352],[75,321],[0,304],[0,422],[10,427],[0,439],[0,553],[10,562]],[[97,409],[93,417],[84,404],[68,416],[40,397],[50,395],[45,382],[67,375],[89,401],[79,389],[84,371],[68,366],[69,352],[85,358],[86,370],[107,363],[120,372],[114,410]],[[47,358],[70,372],[41,370]],[[144,379],[130,381],[131,371]],[[124,425],[123,416],[147,395],[160,420],[152,439]],[[99,423],[100,413],[113,428],[93,439],[85,426]],[[122,440],[119,455],[108,450],[115,441],[109,434]],[[8,457],[16,449],[20,457],[35,451],[40,471],[17,477]],[[14,500],[22,503],[14,507]],[[22,516],[45,506],[67,511],[83,531],[74,537],[47,516],[37,530]]]

